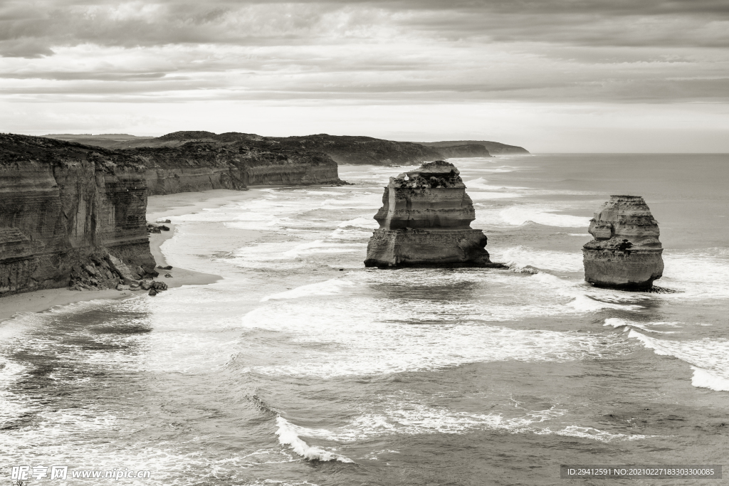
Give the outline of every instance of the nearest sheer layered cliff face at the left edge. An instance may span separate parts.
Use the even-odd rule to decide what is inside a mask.
[[[134,157],[0,135],[0,296],[69,286],[72,275],[92,272],[113,286],[110,256],[154,274],[146,209],[144,166]]]

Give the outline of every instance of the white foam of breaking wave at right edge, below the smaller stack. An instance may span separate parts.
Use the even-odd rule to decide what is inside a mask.
[[[673,356],[693,365],[695,387],[716,391],[729,391],[729,341],[705,338],[702,340],[674,341],[648,337],[634,329],[628,334],[642,342],[645,348],[663,356]]]

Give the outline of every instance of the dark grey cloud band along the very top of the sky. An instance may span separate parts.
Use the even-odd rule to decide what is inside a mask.
[[[383,22],[405,33],[419,29],[448,39],[729,45],[729,4],[711,0],[159,1],[138,4],[142,6],[139,12],[125,5],[130,4],[12,2],[0,11],[0,43],[35,39],[47,50],[86,42],[122,47],[307,43],[326,35],[346,36],[348,29]],[[326,17],[333,12],[339,14],[336,23]]]

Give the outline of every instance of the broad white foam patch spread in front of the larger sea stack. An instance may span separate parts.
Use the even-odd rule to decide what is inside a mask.
[[[394,298],[397,293],[389,293],[391,298],[383,304],[383,291],[397,291],[406,283],[408,294]],[[488,297],[488,305],[481,305],[480,283],[483,291],[498,289],[501,297]],[[431,285],[462,286],[474,295],[448,302],[433,299],[432,294],[422,298]],[[590,291],[583,283],[548,273],[354,271],[265,296],[265,305],[247,313],[242,326],[281,333],[277,346],[287,340],[294,348],[302,347],[300,353],[276,359],[264,356],[252,371],[267,375],[373,375],[478,361],[569,361],[620,354],[625,343],[617,337],[620,344],[589,334],[495,325],[544,315],[641,308],[631,300],[633,294],[628,299],[612,294],[601,299]],[[356,319],[345,326],[343,316],[348,315]],[[242,342],[245,346],[246,340]]]

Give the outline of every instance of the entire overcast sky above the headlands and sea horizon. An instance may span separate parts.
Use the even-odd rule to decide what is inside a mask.
[[[729,152],[727,0],[0,0],[0,131]]]

